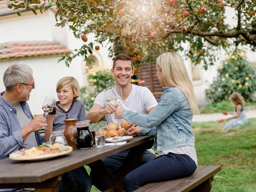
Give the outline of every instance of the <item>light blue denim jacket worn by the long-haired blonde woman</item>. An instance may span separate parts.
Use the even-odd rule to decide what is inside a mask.
[[[186,95],[178,87],[163,87],[163,90],[158,105],[150,114],[124,110],[122,118],[143,127],[142,135],[154,133],[156,150],[195,146],[195,136],[191,131],[193,115]]]

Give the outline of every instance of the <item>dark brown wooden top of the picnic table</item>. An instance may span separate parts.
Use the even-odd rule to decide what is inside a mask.
[[[105,146],[79,150],[73,148],[70,154],[42,161],[0,160],[0,184],[40,183],[80,166],[154,140],[152,136],[134,137],[124,145]]]

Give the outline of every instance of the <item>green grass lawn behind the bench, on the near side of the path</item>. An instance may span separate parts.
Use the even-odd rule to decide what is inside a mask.
[[[224,123],[193,123],[198,165],[221,165],[211,192],[256,192],[256,119],[223,131]],[[90,169],[87,167],[87,171]],[[98,192],[93,186],[91,192]]]

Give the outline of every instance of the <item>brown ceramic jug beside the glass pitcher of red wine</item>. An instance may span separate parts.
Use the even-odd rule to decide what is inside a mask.
[[[76,143],[72,140],[72,134],[71,134],[71,128],[76,125],[76,122],[78,119],[66,119],[65,122],[65,130],[64,130],[64,136],[67,140],[67,144],[71,147],[76,147]],[[73,131],[73,137],[76,137],[76,131]]]

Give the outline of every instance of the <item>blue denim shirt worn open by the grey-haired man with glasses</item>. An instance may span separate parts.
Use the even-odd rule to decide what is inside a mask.
[[[3,99],[3,93],[0,93],[0,159],[7,158],[13,151],[24,148],[17,112]],[[24,113],[32,120],[33,116],[27,102],[20,102],[20,105]],[[44,136],[41,136],[39,131],[35,131],[35,139],[38,145],[44,142]]]

